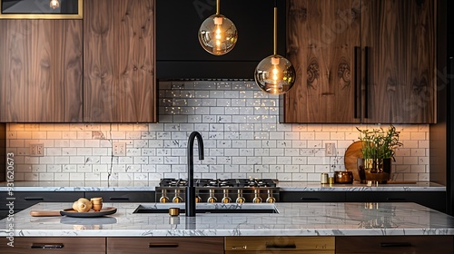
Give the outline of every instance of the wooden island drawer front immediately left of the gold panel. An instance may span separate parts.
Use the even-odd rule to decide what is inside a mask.
[[[222,237],[107,238],[107,253],[222,254]]]

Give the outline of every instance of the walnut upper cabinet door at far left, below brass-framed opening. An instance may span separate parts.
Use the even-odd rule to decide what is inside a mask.
[[[82,121],[82,20],[0,20],[0,122]]]

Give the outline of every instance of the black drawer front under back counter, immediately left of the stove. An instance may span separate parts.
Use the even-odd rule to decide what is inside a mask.
[[[104,202],[154,202],[154,191],[86,191],[85,198],[103,198]]]

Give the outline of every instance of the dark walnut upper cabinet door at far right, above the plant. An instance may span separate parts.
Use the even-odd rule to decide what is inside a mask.
[[[436,2],[362,0],[363,122],[436,122]]]

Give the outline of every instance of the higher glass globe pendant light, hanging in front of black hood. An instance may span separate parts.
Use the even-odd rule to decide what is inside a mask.
[[[202,48],[215,55],[230,52],[238,40],[235,24],[219,14],[219,2],[220,0],[216,0],[216,14],[205,19],[199,29]]]

